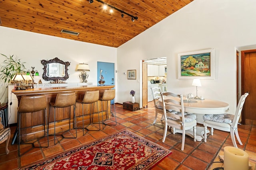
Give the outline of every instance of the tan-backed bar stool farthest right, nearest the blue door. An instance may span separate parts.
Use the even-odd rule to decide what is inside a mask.
[[[111,105],[110,105],[110,113],[112,114],[112,116],[114,116],[115,120],[112,121],[108,117],[108,110],[109,110],[109,108],[108,108],[108,101],[113,100],[115,98],[115,96],[116,96],[116,90],[115,89],[104,90],[102,98],[99,99],[99,100],[102,101],[101,102],[102,123],[104,125],[116,125],[116,107],[115,107],[115,103],[114,103],[114,113],[111,112]],[[104,118],[103,118],[103,101],[106,101],[106,107],[107,107],[107,109],[105,110],[106,111],[106,120],[105,121],[104,121]]]

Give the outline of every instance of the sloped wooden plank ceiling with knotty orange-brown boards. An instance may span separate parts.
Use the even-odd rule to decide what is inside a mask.
[[[193,0],[102,0],[131,16],[103,10],[94,0],[0,0],[0,25],[35,33],[119,47]],[[61,33],[62,29],[79,35]]]

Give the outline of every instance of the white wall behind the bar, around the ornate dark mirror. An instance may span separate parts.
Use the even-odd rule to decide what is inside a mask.
[[[66,82],[81,82],[79,72],[75,71],[76,65],[87,63],[90,66],[87,80],[96,85],[98,82],[97,61],[116,63],[116,51],[117,49],[113,47],[0,27],[0,53],[6,56],[17,56],[22,62],[25,62],[25,66],[29,70],[32,70],[31,66],[35,67],[43,83],[49,81],[42,79],[43,65],[41,60],[58,57],[64,62],[70,62],[70,66],[68,66],[69,78]],[[4,59],[1,55],[0,62]],[[4,90],[5,86],[0,86],[1,97]],[[7,96],[7,92],[4,93],[4,96]],[[3,102],[4,99],[5,97],[0,102]]]

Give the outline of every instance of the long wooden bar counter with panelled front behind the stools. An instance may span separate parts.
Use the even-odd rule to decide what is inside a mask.
[[[100,96],[102,96],[104,90],[112,89],[114,88],[113,85],[104,85],[104,86],[66,86],[66,87],[42,87],[42,88],[34,88],[34,89],[28,89],[28,90],[13,90],[12,92],[17,96],[18,98],[18,105],[20,102],[21,96],[34,96],[34,95],[45,95],[46,96],[46,102],[48,103],[47,106],[47,119],[50,116],[50,123],[49,123],[49,134],[54,133],[54,108],[50,109],[49,113],[49,103],[54,102],[56,99],[56,96],[58,93],[68,93],[68,92],[75,92],[76,93],[76,99],[83,99],[84,93],[88,90],[99,90]],[[99,96],[99,97],[100,97]],[[101,103],[101,101],[98,101],[98,109],[97,105],[95,105],[94,112],[97,112],[99,110],[100,112],[100,121],[102,121],[102,104],[103,104],[103,116],[106,117],[106,102]],[[108,105],[110,107],[110,102],[108,102]],[[82,117],[79,117],[82,115],[82,104],[76,102],[76,125],[77,127],[82,127]],[[84,104],[84,115],[88,114],[84,117],[85,124],[86,122],[90,122],[90,106],[89,104]],[[109,117],[110,117],[110,111],[109,111]],[[74,109],[71,108],[71,129],[73,128],[74,123]],[[62,132],[69,129],[69,108],[57,108],[56,109],[56,133]],[[95,122],[99,121],[98,117],[94,117],[93,119]],[[44,120],[43,111],[37,111],[33,113],[26,113],[22,115],[22,127],[30,127],[27,129],[24,129],[22,132],[22,142],[30,141],[31,139],[36,139],[40,136],[44,135],[44,126],[40,125],[42,124],[42,121]],[[47,120],[48,121],[48,120]]]

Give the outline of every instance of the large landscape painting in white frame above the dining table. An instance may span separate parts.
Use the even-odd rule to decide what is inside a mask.
[[[178,54],[178,79],[214,79],[214,49]]]

